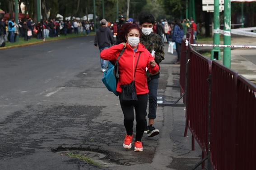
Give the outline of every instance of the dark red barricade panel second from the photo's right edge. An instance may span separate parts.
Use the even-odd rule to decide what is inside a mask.
[[[237,72],[213,61],[211,70],[210,161],[216,170],[234,170]]]

